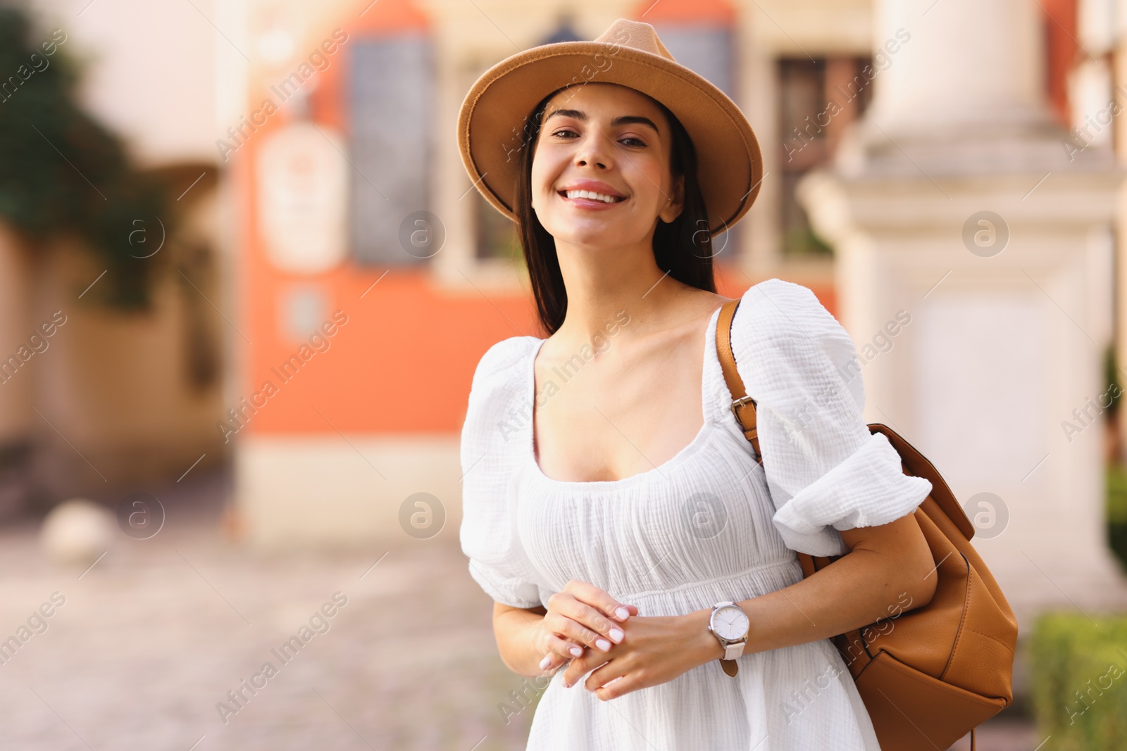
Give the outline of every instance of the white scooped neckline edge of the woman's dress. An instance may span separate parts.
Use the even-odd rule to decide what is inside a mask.
[[[708,438],[709,429],[713,424],[716,424],[715,415],[712,413],[712,406],[709,403],[710,400],[709,400],[709,387],[708,387],[708,381],[709,381],[709,378],[708,378],[708,376],[709,376],[708,368],[709,368],[709,360],[710,359],[716,359],[719,363],[718,356],[717,356],[717,354],[715,351],[716,350],[716,345],[715,345],[716,340],[711,338],[711,334],[712,334],[712,332],[716,329],[716,322],[717,322],[717,320],[718,320],[718,318],[720,315],[720,311],[721,310],[724,310],[724,305],[722,304],[719,307],[717,307],[715,311],[712,311],[712,315],[709,318],[709,323],[704,328],[704,356],[703,356],[703,363],[702,363],[702,366],[701,366],[701,384],[700,384],[701,413],[702,413],[702,415],[704,418],[704,422],[701,424],[700,430],[696,431],[696,435],[693,436],[693,439],[691,441],[689,441],[689,444],[686,444],[685,446],[683,446],[681,448],[681,450],[678,450],[676,454],[674,454],[672,457],[669,457],[668,459],[666,459],[662,464],[653,466],[649,470],[645,470],[642,472],[635,473],[635,474],[629,475],[627,477],[621,477],[619,480],[556,480],[554,477],[549,477],[548,475],[545,475],[544,472],[543,472],[543,470],[540,468],[540,462],[536,461],[536,446],[535,446],[535,440],[536,440],[536,428],[535,428],[535,424],[536,424],[535,423],[535,419],[536,419],[536,356],[540,354],[541,348],[543,348],[544,342],[548,341],[548,339],[547,338],[545,339],[539,339],[539,338],[533,337],[533,339],[536,339],[536,341],[539,343],[536,343],[530,350],[529,361],[527,361],[527,365],[525,366],[526,367],[526,372],[525,372],[526,383],[525,383],[525,390],[524,390],[524,396],[530,400],[530,402],[529,402],[530,403],[530,408],[529,408],[529,415],[530,415],[530,418],[529,418],[529,431],[527,431],[527,439],[524,442],[524,447],[525,447],[525,461],[530,465],[530,470],[531,470],[532,474],[538,480],[540,480],[541,482],[547,482],[547,483],[549,483],[551,485],[556,485],[558,488],[575,488],[575,489],[585,489],[585,490],[612,490],[612,489],[619,489],[619,488],[623,488],[623,486],[627,486],[627,485],[630,485],[630,484],[635,484],[635,483],[639,483],[639,482],[645,482],[646,480],[649,480],[649,479],[651,479],[654,476],[660,476],[662,479],[665,479],[665,474],[664,474],[665,470],[671,468],[673,466],[676,466],[677,464],[680,464],[683,461],[685,461],[689,456],[691,456],[692,454],[694,454],[696,452],[696,449],[700,448],[700,446]],[[710,341],[712,342],[711,347],[709,346]],[[712,351],[710,351],[710,350],[712,350]],[[640,450],[638,453],[641,454]],[[645,455],[642,455],[642,456],[645,457]],[[646,459],[646,461],[648,462],[649,459]]]

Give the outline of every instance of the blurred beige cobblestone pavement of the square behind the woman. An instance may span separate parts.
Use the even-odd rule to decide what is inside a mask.
[[[497,656],[491,601],[456,530],[390,549],[260,555],[218,529],[174,507],[156,537],[122,535],[83,573],[44,556],[35,521],[0,527],[0,640],[53,593],[65,598],[0,664],[0,749],[524,748],[533,710],[502,717],[523,679]],[[311,625],[338,592],[347,602]],[[283,653],[303,626],[312,637]],[[979,751],[1036,745],[1027,723],[995,724]]]

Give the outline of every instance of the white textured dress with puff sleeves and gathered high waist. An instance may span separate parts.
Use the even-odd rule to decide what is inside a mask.
[[[837,530],[893,521],[931,492],[903,473],[887,438],[869,432],[849,334],[813,292],[780,279],[743,295],[731,332],[757,402],[764,476],[730,410],[718,316],[706,336],[700,432],[668,462],[619,481],[540,471],[532,363],[544,340],[513,337],[481,357],[462,430],[461,544],[470,574],[496,601],[547,607],[570,579],[644,616],[749,599],[802,579],[795,551],[845,553]],[[565,689],[562,674],[540,697],[527,749],[879,751],[828,638],[745,654],[735,678],[713,660],[609,701],[582,682]]]

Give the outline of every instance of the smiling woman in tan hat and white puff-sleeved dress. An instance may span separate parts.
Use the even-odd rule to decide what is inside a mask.
[[[575,81],[584,60],[597,75]],[[852,340],[779,279],[731,324],[756,463],[711,265],[758,188],[746,119],[619,19],[499,63],[459,128],[549,333],[482,356],[461,445],[462,548],[500,656],[551,676],[527,748],[879,751],[829,637],[931,598],[911,516],[931,484],[869,432]],[[796,551],[849,555],[804,579]]]

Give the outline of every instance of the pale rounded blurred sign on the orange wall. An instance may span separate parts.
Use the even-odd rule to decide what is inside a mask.
[[[347,252],[344,142],[332,128],[308,120],[267,137],[256,164],[267,258],[285,271],[327,271]]]

